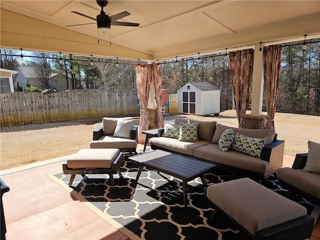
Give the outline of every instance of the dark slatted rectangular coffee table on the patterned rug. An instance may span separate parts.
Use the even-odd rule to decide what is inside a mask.
[[[187,182],[200,177],[203,186],[206,182],[203,174],[215,167],[215,164],[174,154],[163,150],[154,150],[147,153],[130,156],[129,159],[139,165],[135,181],[137,182],[143,167],[161,171],[182,180],[183,203],[187,202]]]

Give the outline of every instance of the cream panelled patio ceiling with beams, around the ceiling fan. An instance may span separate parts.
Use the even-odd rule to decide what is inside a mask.
[[[106,14],[126,10],[120,20],[140,25],[111,26],[99,44],[96,24],[66,27],[94,22],[71,10],[95,17],[95,0],[1,0],[0,8],[3,48],[156,60],[320,36],[319,0],[109,0]]]

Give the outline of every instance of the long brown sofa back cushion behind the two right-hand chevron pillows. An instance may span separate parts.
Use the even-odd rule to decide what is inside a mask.
[[[269,130],[269,129],[247,129],[247,128],[237,128],[237,127],[225,126],[222,124],[216,124],[215,132],[211,142],[218,144],[220,136],[222,135],[222,132],[227,128],[232,128],[234,133],[238,132],[249,137],[255,137],[255,138],[266,137],[267,139],[266,144],[271,143],[275,135],[275,131]]]

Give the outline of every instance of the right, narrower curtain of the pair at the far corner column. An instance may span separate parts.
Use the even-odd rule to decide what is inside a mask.
[[[160,65],[154,62],[152,64],[152,73],[153,73],[153,81],[154,81],[154,94],[155,94],[155,102],[157,106],[157,115],[158,115],[158,126],[157,128],[164,127],[163,124],[163,116],[162,116],[162,100],[161,100],[161,68]]]

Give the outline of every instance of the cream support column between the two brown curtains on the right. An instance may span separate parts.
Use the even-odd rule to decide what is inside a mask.
[[[262,114],[263,97],[263,44],[262,51],[259,51],[260,43],[254,45],[252,95],[251,95],[251,115],[260,116]]]

